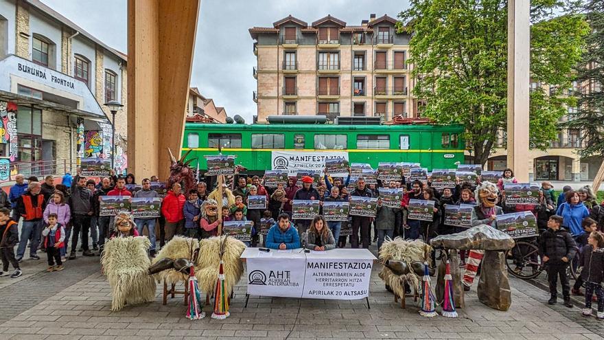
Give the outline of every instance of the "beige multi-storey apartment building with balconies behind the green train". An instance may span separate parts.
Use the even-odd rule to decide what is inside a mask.
[[[287,16],[249,30],[255,41],[259,123],[268,115],[417,117],[407,63],[410,35],[396,19],[371,14],[361,25],[327,15],[312,22]]]

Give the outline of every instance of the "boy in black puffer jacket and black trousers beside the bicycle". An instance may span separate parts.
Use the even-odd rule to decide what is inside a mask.
[[[566,229],[561,228],[562,216],[553,215],[548,220],[548,229],[544,231],[539,242],[539,254],[547,264],[548,280],[550,284],[550,299],[548,304],[557,302],[557,280],[560,277],[564,306],[572,308],[570,303],[570,285],[568,284],[568,264],[574,253],[576,245],[574,239]]]

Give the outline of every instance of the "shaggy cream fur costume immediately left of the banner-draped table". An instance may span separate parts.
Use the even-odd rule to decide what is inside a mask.
[[[205,238],[200,241],[199,256],[195,275],[199,282],[201,291],[211,295],[216,288],[216,278],[218,277],[218,268],[220,267],[220,243],[225,236]],[[224,284],[227,292],[233,291],[233,287],[241,279],[243,274],[243,262],[240,259],[245,250],[244,242],[227,238],[227,245],[224,247]]]

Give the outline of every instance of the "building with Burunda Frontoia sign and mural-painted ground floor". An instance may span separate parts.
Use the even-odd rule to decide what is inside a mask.
[[[39,0],[0,0],[0,157],[38,175],[73,171],[86,155],[110,157],[104,103],[115,100],[124,105],[115,115],[115,168],[124,170],[126,63]]]

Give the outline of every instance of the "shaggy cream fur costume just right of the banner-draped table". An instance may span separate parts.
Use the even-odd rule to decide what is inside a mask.
[[[380,260],[382,263],[386,260],[397,260],[406,262],[409,267],[411,262],[424,262],[426,259],[426,253],[429,253],[432,247],[426,245],[421,240],[407,241],[403,238],[397,237],[394,240],[386,238],[382,248],[380,248]],[[393,292],[401,297],[405,298],[405,283],[407,283],[413,291],[418,294],[421,293],[421,287],[419,282],[421,277],[410,271],[407,275],[396,275],[390,269],[385,266],[379,274],[380,278],[392,288]]]

